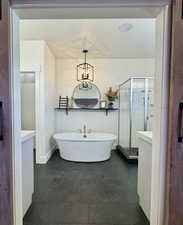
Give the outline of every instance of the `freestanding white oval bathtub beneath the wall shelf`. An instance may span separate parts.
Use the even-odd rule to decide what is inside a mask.
[[[100,162],[110,158],[116,136],[109,133],[90,133],[83,137],[80,133],[59,133],[54,139],[60,156],[74,162]]]

